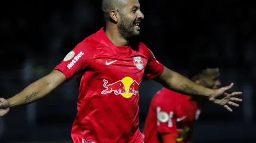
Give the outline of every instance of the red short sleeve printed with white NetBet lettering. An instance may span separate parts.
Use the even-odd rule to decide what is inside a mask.
[[[67,79],[71,79],[83,69],[87,68],[94,58],[96,48],[83,41],[71,50],[54,70],[61,71]]]

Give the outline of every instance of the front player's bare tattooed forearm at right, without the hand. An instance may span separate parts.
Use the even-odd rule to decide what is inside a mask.
[[[196,84],[181,74],[174,72],[166,67],[159,76],[155,77],[154,80],[161,83],[168,89],[185,95],[201,95],[211,97],[214,92],[213,89]]]

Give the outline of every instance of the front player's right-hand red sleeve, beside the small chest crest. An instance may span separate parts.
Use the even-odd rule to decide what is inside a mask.
[[[146,50],[148,62],[145,68],[144,79],[150,80],[160,75],[164,71],[164,66],[156,60],[152,51],[150,51],[148,48],[146,48]]]

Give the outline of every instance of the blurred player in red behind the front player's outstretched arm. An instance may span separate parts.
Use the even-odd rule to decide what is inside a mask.
[[[204,87],[220,86],[218,62],[206,55],[195,56],[190,65],[189,78]],[[145,143],[188,143],[194,122],[207,100],[182,95],[162,88],[153,97],[143,129]]]

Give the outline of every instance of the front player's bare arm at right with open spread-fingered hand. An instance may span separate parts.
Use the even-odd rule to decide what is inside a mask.
[[[229,111],[232,111],[232,109],[228,105],[238,107],[239,105],[234,101],[242,101],[240,98],[232,97],[235,95],[241,95],[241,92],[232,92],[231,94],[225,93],[226,90],[232,88],[233,83],[229,86],[213,90],[196,84],[179,73],[171,71],[166,67],[159,76],[154,78],[154,80],[161,83],[166,88],[174,90],[178,93],[208,97],[210,101],[224,106]]]

